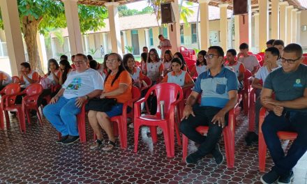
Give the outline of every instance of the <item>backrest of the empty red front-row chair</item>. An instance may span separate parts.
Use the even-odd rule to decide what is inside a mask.
[[[184,92],[181,86],[174,83],[160,83],[152,86],[147,91],[148,96],[152,91],[156,94],[157,98],[157,112],[160,113],[160,101],[164,101],[164,114],[168,116],[170,113],[170,105],[176,100],[182,100],[184,98]],[[179,95],[179,97],[178,97]]]

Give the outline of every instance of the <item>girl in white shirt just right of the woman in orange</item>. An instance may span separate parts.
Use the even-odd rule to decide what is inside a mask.
[[[123,56],[123,67],[129,72],[131,78],[133,79],[133,85],[141,88],[144,83],[143,78],[144,75],[140,68],[135,67],[135,59],[133,54],[125,54]]]

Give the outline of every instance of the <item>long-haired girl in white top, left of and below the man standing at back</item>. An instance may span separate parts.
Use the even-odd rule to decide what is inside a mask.
[[[156,49],[150,49],[149,58],[147,59],[147,67],[144,71],[144,75],[147,75],[151,79],[152,84],[156,84],[157,81],[163,78],[163,63],[160,61],[158,52]]]

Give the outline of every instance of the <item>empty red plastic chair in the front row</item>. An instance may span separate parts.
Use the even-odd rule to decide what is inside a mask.
[[[146,102],[149,98],[151,92],[154,92],[157,97],[157,102],[164,101],[164,119],[161,119],[160,114],[160,105],[157,105],[157,113],[155,115],[144,115],[141,116],[140,105],[142,102]],[[179,98],[178,98],[179,95]],[[165,147],[167,152],[167,157],[174,157],[174,128],[177,132],[177,141],[178,144],[181,144],[180,135],[179,135],[179,126],[174,122],[174,113],[175,107],[179,105],[181,100],[184,97],[184,93],[181,87],[177,84],[173,83],[162,83],[156,84],[152,86],[144,98],[135,102],[134,109],[134,129],[135,129],[135,153],[137,152],[137,144],[139,139],[139,129],[142,125],[147,125],[151,131],[151,137],[153,140],[153,144],[155,144],[157,140],[157,130],[156,127],[159,126],[163,130],[163,135],[165,139]]]

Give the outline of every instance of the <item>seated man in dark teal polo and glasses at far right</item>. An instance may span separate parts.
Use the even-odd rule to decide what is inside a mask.
[[[261,102],[269,110],[262,132],[274,167],[261,178],[262,183],[291,183],[292,168],[307,151],[307,66],[301,64],[303,50],[295,43],[283,49],[282,68],[271,72],[264,82]],[[272,98],[275,93],[275,99]],[[278,131],[297,132],[285,155]]]

